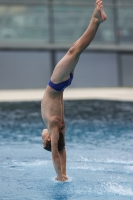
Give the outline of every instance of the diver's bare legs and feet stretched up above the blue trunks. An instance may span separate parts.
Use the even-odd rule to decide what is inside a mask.
[[[73,44],[66,55],[56,65],[51,80],[53,83],[60,83],[69,78],[71,72],[78,62],[80,54],[88,47],[93,40],[97,29],[103,21],[106,20],[106,14],[101,0],[96,1],[94,13],[90,24],[84,34]]]

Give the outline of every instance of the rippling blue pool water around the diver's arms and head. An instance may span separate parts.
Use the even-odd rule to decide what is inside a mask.
[[[0,103],[0,200],[133,199],[133,103],[66,101],[69,180],[43,150],[40,102]]]

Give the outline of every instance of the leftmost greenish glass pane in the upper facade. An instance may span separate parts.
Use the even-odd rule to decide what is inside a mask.
[[[0,39],[48,41],[46,6],[0,6]]]

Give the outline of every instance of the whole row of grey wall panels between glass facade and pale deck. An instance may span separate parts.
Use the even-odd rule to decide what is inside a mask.
[[[65,52],[55,53],[56,63]],[[45,88],[51,75],[49,51],[0,52],[0,89]],[[121,55],[123,86],[133,86],[133,56]],[[84,52],[71,87],[118,87],[116,53]]]

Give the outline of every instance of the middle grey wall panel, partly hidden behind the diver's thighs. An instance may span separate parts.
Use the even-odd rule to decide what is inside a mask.
[[[57,53],[57,60],[64,54]],[[81,55],[71,87],[117,87],[117,57],[115,53],[88,53]]]

